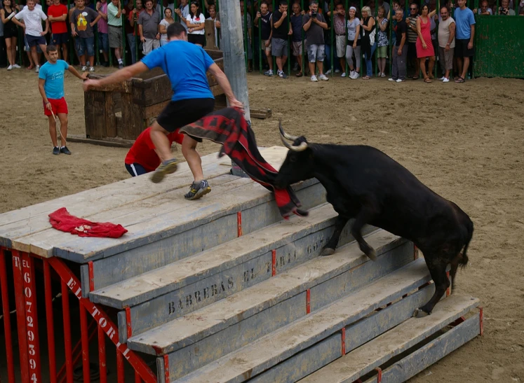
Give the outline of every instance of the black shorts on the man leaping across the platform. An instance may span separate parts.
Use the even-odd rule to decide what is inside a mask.
[[[181,99],[172,101],[161,111],[156,118],[156,122],[172,133],[180,127],[200,120],[206,114],[212,113],[214,109],[215,99]],[[192,139],[202,142],[202,139],[196,137],[192,137]]]

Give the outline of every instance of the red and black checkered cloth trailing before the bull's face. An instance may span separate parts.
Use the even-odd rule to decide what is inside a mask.
[[[300,209],[300,201],[292,188],[275,188],[278,172],[260,155],[255,133],[238,109],[215,111],[195,123],[181,127],[180,132],[222,144],[218,156],[228,155],[253,181],[273,191],[283,218],[287,219],[291,213],[307,216],[307,211]]]

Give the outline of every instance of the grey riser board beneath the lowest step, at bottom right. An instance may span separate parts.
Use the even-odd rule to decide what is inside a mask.
[[[410,377],[414,377],[417,373],[422,372],[444,356],[451,354],[452,351],[477,337],[480,334],[480,324],[481,319],[476,312],[463,323],[383,370],[382,382],[403,383]]]

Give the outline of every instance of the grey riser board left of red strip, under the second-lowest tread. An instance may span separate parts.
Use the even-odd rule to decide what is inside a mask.
[[[322,342],[309,347],[286,361],[262,372],[249,383],[295,383],[318,368],[340,358],[342,347],[341,334],[331,335]],[[325,382],[330,383],[330,382]]]

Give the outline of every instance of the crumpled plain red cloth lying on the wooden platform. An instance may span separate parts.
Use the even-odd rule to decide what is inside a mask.
[[[61,207],[49,214],[49,222],[51,222],[53,228],[76,234],[79,237],[120,238],[128,232],[122,225],[115,225],[109,222],[91,222],[72,216],[65,207]]]

